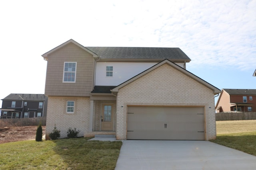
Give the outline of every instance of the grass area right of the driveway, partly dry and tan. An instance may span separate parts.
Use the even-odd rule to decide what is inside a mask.
[[[216,129],[217,138],[211,142],[256,156],[256,120],[217,121]]]

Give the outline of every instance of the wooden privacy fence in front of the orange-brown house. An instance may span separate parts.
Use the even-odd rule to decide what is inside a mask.
[[[215,114],[216,121],[224,120],[256,120],[256,112],[226,113],[220,112]]]

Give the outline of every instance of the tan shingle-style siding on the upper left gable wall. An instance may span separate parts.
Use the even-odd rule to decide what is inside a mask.
[[[63,83],[64,62],[77,62],[75,83]],[[70,43],[48,56],[45,94],[47,96],[90,96],[93,75],[92,55]]]

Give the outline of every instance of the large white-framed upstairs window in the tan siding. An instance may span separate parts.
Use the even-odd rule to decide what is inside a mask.
[[[64,62],[63,82],[76,82],[76,62]]]

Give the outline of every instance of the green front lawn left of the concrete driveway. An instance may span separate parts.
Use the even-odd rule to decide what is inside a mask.
[[[20,141],[0,144],[0,169],[114,170],[121,141]]]

